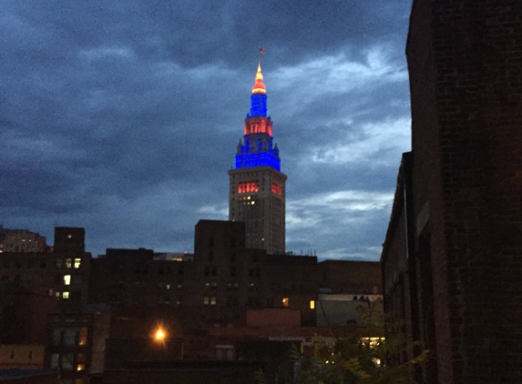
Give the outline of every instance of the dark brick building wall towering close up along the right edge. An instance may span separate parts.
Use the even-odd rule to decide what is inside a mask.
[[[522,382],[522,4],[414,0],[406,55],[385,308],[432,351],[419,381]]]

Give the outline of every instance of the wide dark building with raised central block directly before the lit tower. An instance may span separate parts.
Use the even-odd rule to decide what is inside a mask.
[[[320,288],[381,294],[379,263],[268,255],[245,248],[242,222],[200,220],[194,242],[194,256],[185,261],[160,259],[150,249],[107,249],[92,260],[89,302],[110,303],[115,314],[137,322],[152,313],[193,333],[242,326],[247,310],[259,308],[296,309],[302,325],[313,326]]]

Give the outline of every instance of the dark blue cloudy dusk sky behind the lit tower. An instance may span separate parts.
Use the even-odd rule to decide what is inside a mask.
[[[411,0],[4,0],[0,224],[193,250],[228,218],[260,47],[287,250],[378,259],[410,148]]]

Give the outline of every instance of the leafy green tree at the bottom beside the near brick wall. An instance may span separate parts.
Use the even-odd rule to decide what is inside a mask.
[[[363,332],[359,335],[336,336],[333,346],[314,342],[314,356],[302,357],[293,350],[298,369],[295,384],[408,384],[413,367],[424,363],[428,350],[414,359],[398,362],[405,350],[413,350],[418,343],[408,345],[402,325],[384,322],[382,307],[373,304],[362,309]],[[384,325],[385,324],[385,325]],[[384,337],[385,335],[385,337]],[[266,383],[262,372],[256,379]]]

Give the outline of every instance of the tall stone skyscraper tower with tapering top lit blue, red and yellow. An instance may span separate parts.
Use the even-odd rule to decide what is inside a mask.
[[[229,219],[246,224],[247,248],[284,252],[286,175],[281,173],[277,145],[273,146],[267,116],[266,88],[258,66],[251,94],[251,113],[238,144],[236,167],[230,169]]]

